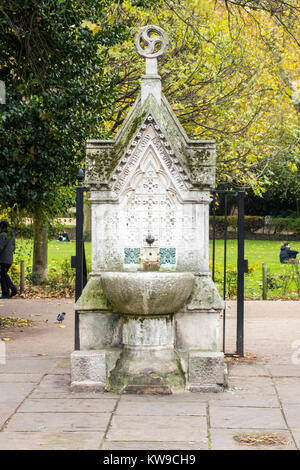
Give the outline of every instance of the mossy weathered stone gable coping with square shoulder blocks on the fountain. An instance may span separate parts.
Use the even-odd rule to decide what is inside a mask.
[[[87,144],[86,184],[92,188],[109,184],[109,176],[119,164],[126,148],[136,141],[147,116],[151,114],[161,133],[170,140],[171,148],[180,162],[189,168],[193,183],[211,187],[215,180],[215,143],[213,141],[191,140],[175,117],[166,98],[162,95],[161,105],[150,93],[143,103],[140,97],[117,134],[115,140],[89,140]]]

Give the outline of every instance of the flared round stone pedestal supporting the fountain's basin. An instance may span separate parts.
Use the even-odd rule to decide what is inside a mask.
[[[117,393],[165,394],[184,390],[184,374],[174,351],[171,315],[125,317],[123,350],[108,384],[108,389]]]

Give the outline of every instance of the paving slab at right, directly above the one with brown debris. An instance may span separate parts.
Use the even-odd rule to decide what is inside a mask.
[[[255,407],[210,407],[211,428],[286,429],[280,409]]]

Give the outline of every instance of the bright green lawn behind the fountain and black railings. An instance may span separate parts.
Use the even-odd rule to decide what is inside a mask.
[[[291,247],[300,252],[300,241],[290,242]],[[267,265],[269,271],[269,298],[299,298],[300,274],[297,281],[295,267],[283,265],[279,262],[279,251],[283,242],[280,241],[245,241],[245,259],[248,259],[249,274],[245,275],[245,296],[248,298],[261,298],[262,296],[262,264]],[[48,272],[50,276],[61,274],[63,266],[70,265],[71,256],[75,255],[75,241],[68,243],[51,240],[48,245]],[[91,268],[91,243],[85,243],[88,270]],[[299,256],[298,256],[299,257]],[[212,258],[212,243],[210,243],[210,259]],[[15,263],[21,259],[30,269],[32,263],[32,241],[18,240],[15,253]],[[216,240],[216,283],[223,291],[222,279],[224,270],[224,242]],[[236,294],[236,266],[237,266],[237,241],[227,241],[227,290],[230,297]],[[298,267],[298,266],[297,266]],[[300,272],[300,266],[299,266]],[[294,276],[294,279],[293,279]],[[284,278],[284,279],[283,279]],[[290,281],[288,281],[290,279]],[[276,287],[274,287],[276,286]],[[274,287],[271,289],[271,287]]]

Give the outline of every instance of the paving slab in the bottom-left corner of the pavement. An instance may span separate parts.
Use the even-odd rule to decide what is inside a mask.
[[[97,450],[104,433],[97,432],[4,432],[1,450]]]

